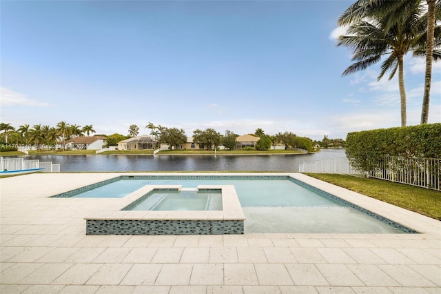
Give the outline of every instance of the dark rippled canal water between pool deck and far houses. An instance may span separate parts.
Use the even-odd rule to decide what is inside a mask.
[[[61,172],[272,171],[298,172],[299,164],[345,157],[345,150],[296,155],[30,155],[60,164]]]

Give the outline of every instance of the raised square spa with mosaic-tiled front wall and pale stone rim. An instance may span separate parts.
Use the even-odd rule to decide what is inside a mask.
[[[224,235],[243,234],[245,215],[240,206],[236,190],[232,185],[221,186],[198,186],[193,192],[205,194],[204,210],[154,210],[165,204],[165,199],[170,195],[178,195],[181,186],[151,186],[147,185],[136,192],[123,198],[125,205],[112,216],[86,217],[87,235]],[[160,197],[147,204],[145,210],[132,210],[149,197],[155,195],[155,191],[161,191]],[[167,191],[169,193],[167,193]],[[184,189],[181,191],[189,191]],[[165,192],[165,193],[164,193]],[[219,194],[220,203],[212,206],[208,202]],[[157,196],[158,193],[156,193]],[[163,194],[165,197],[161,197]],[[188,195],[192,193],[183,193]],[[197,193],[193,196],[197,196]],[[172,200],[169,197],[168,200]],[[197,198],[197,197],[196,197]],[[195,198],[193,198],[195,199]],[[179,202],[178,197],[175,200]],[[196,199],[200,200],[200,199]],[[189,201],[191,202],[191,200]],[[189,203],[187,202],[187,203]],[[201,201],[196,201],[201,202]],[[203,202],[203,201],[202,201]],[[214,200],[216,202],[216,200]],[[147,201],[148,203],[148,201]],[[165,206],[168,206],[166,204]],[[201,206],[200,204],[198,205]],[[147,209],[148,208],[148,209]],[[153,208],[153,209],[150,209]],[[211,208],[211,210],[210,210]],[[185,209],[194,209],[191,206]]]

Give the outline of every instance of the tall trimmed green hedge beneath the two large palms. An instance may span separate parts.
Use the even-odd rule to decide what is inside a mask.
[[[354,167],[364,171],[386,156],[441,158],[441,124],[349,133],[346,155]]]

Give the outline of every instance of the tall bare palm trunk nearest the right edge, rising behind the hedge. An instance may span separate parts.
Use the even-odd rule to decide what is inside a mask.
[[[426,74],[424,75],[424,95],[422,97],[421,124],[429,120],[430,86],[432,79],[433,39],[435,33],[435,0],[427,0]]]

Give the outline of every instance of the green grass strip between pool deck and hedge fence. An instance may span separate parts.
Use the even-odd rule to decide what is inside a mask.
[[[434,219],[441,219],[440,191],[351,175],[307,175]]]

